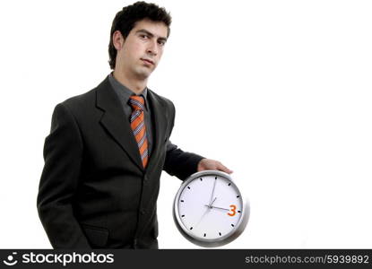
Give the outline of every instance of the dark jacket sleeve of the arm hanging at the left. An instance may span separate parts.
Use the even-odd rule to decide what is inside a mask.
[[[72,205],[82,162],[82,137],[74,116],[63,104],[53,112],[44,161],[37,204],[50,243],[54,248],[91,248]]]

